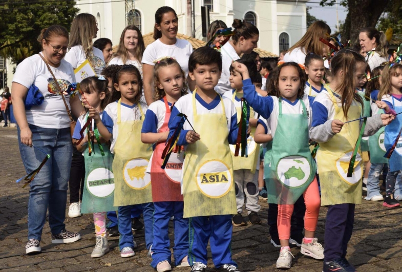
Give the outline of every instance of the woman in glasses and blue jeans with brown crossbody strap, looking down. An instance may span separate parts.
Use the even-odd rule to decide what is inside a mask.
[[[26,58],[17,66],[11,87],[14,116],[18,124],[19,152],[27,173],[38,168],[46,154],[50,155],[30,183],[27,254],[41,251],[39,242],[48,208],[52,243],[71,243],[80,239],[78,233],[66,231],[64,223],[72,143],[70,119],[61,95],[65,96],[74,116],[79,116],[83,111],[78,96],[70,98],[68,95],[70,84],[75,82],[73,68],[63,59],[68,51],[69,33],[64,27],[53,25],[41,31],[38,41],[43,51]],[[58,91],[45,61],[62,93]],[[25,102],[33,100],[27,98],[32,85],[39,89],[38,94],[43,101],[26,108]]]

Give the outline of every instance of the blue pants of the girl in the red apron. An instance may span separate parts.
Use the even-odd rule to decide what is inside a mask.
[[[188,219],[183,218],[182,201],[154,202],[154,243],[152,244],[151,266],[156,268],[162,261],[172,261],[168,225],[172,216],[175,226],[175,245],[173,246],[175,265],[180,265],[188,255]]]

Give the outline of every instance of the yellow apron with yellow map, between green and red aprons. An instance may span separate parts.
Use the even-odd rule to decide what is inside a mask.
[[[114,148],[113,174],[115,180],[114,206],[152,202],[151,175],[146,168],[152,155],[150,144],[141,142],[145,115],[138,103],[140,120],[121,121],[121,101],[117,104],[118,137]],[[134,108],[134,111],[137,109]],[[137,114],[137,112],[135,112]]]

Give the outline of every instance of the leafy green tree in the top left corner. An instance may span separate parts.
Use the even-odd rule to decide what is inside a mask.
[[[0,54],[19,64],[41,51],[41,29],[61,25],[70,29],[79,9],[75,1],[2,0],[0,2]]]

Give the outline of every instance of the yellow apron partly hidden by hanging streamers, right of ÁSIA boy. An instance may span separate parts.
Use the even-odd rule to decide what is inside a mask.
[[[241,94],[241,97],[243,97],[243,94]],[[235,102],[237,92],[235,91],[232,96],[232,101]],[[241,118],[241,113],[242,109],[241,107],[236,107],[237,110],[237,121],[240,122]],[[254,118],[254,110],[250,107],[250,118]],[[250,136],[247,138],[247,158],[237,156],[235,157],[235,150],[236,150],[236,144],[230,144],[230,153],[231,157],[233,160],[233,170],[239,170],[239,169],[249,169],[251,170],[251,173],[254,174],[256,172],[256,166],[257,166],[257,160],[260,156],[260,144],[257,144],[254,141],[254,135],[256,133],[256,128],[251,127],[251,133]],[[241,150],[241,145],[240,145],[240,150]]]

